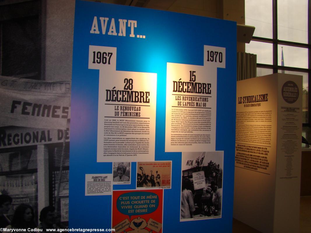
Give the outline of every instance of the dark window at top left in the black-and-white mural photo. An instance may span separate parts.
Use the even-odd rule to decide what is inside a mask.
[[[0,1],[0,75],[41,79],[40,1]]]

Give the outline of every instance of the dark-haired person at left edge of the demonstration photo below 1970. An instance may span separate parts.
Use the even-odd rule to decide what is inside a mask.
[[[191,181],[188,178],[182,179],[181,185],[181,211],[180,218],[193,218],[195,211]]]

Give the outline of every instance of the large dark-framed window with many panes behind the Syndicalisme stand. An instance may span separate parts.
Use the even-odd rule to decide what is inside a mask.
[[[245,52],[257,54],[257,76],[287,73],[303,76],[303,126],[311,126],[311,0],[245,0],[245,24],[255,26]],[[309,9],[309,10],[308,10]]]

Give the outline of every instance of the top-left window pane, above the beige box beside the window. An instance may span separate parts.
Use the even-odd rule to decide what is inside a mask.
[[[254,36],[272,38],[272,0],[245,0],[245,25],[255,27]]]

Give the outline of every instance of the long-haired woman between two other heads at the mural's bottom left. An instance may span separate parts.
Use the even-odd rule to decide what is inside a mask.
[[[7,229],[35,229],[35,215],[34,209],[27,204],[20,204],[17,206],[11,225],[8,225]]]

